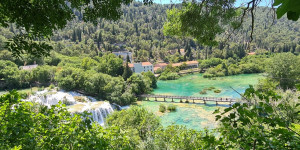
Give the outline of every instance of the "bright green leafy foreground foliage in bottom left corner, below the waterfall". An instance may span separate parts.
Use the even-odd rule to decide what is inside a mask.
[[[72,114],[61,103],[48,108],[21,98],[16,91],[0,96],[1,149],[135,149],[126,133],[93,123],[90,113]]]

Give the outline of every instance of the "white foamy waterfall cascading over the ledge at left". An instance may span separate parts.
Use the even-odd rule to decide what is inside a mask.
[[[83,96],[77,92],[44,90],[36,92],[36,94],[25,99],[25,101],[40,103],[48,107],[57,105],[61,101],[67,105],[68,110],[72,113],[84,111],[91,113],[91,118],[102,126],[105,118],[114,111],[109,102],[97,101],[93,97]]]

